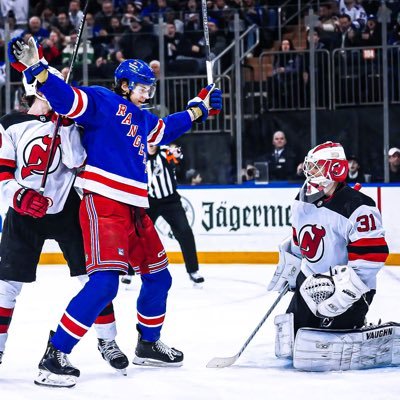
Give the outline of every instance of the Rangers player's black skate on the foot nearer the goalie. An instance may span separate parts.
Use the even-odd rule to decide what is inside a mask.
[[[180,367],[183,362],[183,353],[181,351],[167,346],[161,340],[156,342],[142,340],[140,331],[135,355],[133,359],[133,364],[135,365]]]

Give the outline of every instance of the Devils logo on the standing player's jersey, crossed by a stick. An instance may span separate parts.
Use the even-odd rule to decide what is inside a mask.
[[[51,138],[49,135],[46,135],[42,138],[35,138],[27,144],[23,152],[24,167],[21,169],[22,179],[26,179],[32,174],[43,175],[49,156],[50,143]],[[60,137],[57,137],[49,174],[57,169],[61,161],[60,143]]]

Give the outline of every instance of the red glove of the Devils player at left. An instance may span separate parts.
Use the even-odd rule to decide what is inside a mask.
[[[13,206],[19,214],[42,218],[46,215],[49,202],[35,190],[21,188],[15,192]]]

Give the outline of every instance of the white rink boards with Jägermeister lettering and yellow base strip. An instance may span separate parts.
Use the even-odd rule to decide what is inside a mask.
[[[400,264],[400,186],[364,186],[382,212],[390,256]],[[193,233],[200,263],[276,263],[280,241],[291,234],[291,210],[298,187],[182,187],[179,193]],[[1,210],[2,221],[4,210]],[[2,225],[2,224],[1,224]],[[182,262],[168,224],[156,224],[172,263]],[[47,241],[41,263],[64,263],[57,244]]]

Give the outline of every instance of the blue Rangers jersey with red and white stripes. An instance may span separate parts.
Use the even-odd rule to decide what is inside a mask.
[[[84,127],[87,162],[76,185],[148,207],[147,142],[167,144],[181,136],[192,126],[189,113],[159,119],[106,88],[73,88],[50,73],[40,90],[57,112]]]

